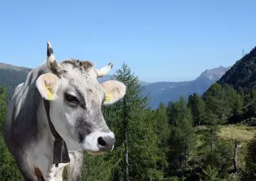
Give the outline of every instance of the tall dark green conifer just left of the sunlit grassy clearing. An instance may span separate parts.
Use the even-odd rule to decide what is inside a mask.
[[[176,168],[188,166],[188,157],[195,145],[195,130],[192,126],[191,112],[184,96],[175,103],[173,117],[170,118],[169,163],[171,172]]]

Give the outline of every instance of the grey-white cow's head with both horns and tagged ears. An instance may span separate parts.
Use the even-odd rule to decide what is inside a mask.
[[[126,87],[115,80],[97,81],[112,66],[111,62],[95,69],[92,62],[74,59],[58,63],[47,42],[47,67],[51,73],[40,75],[36,87],[51,103],[50,116],[56,131],[72,148],[81,147],[89,154],[113,150],[115,134],[109,130],[101,106],[122,99]]]

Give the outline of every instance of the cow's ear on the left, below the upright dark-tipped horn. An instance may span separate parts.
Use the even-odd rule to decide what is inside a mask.
[[[59,86],[59,78],[53,73],[40,75],[36,80],[36,87],[43,98],[52,101],[56,99]]]

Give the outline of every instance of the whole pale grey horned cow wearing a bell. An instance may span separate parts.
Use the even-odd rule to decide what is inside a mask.
[[[83,152],[111,152],[115,134],[102,106],[124,98],[126,85],[99,82],[113,62],[95,69],[91,61],[57,62],[50,41],[47,61],[32,69],[13,93],[4,122],[4,141],[25,180],[80,180]]]

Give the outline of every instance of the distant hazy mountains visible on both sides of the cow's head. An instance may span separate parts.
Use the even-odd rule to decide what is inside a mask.
[[[201,95],[212,85],[212,83],[220,80],[229,69],[223,66],[213,69],[206,69],[198,78],[184,82],[142,82],[145,89],[141,94],[147,96],[149,94],[149,107],[156,109],[159,103],[163,102],[167,105],[169,101],[177,101],[181,95],[188,98],[194,92]],[[6,85],[6,91],[11,96],[15,87],[26,80],[31,68],[13,66],[10,64],[0,63],[0,86]],[[100,82],[109,80],[111,75],[99,78]]]

